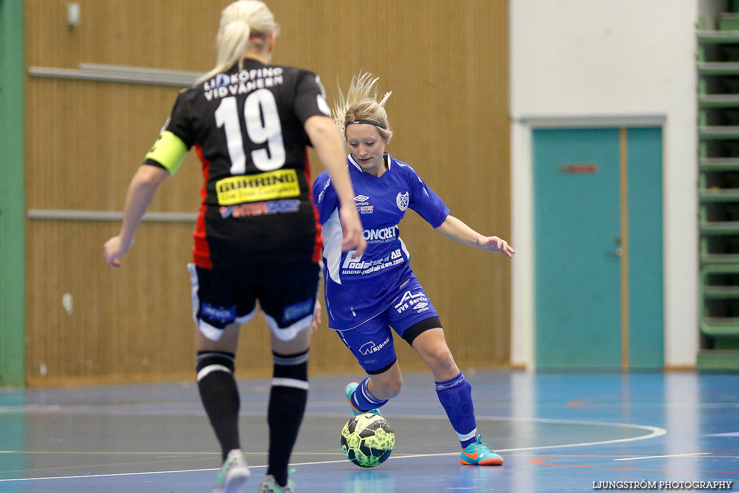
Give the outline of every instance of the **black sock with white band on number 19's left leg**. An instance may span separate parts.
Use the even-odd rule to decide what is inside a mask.
[[[197,389],[205,413],[221,445],[222,460],[240,449],[239,390],[234,379],[234,353],[197,352]]]

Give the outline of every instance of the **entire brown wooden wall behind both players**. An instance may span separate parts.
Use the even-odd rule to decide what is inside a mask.
[[[25,2],[27,66],[79,63],[202,71],[214,64],[228,1],[89,0],[67,27],[62,0]],[[313,69],[346,89],[378,75],[395,131],[387,150],[414,166],[483,234],[510,232],[508,1],[268,1],[282,33],[275,63]],[[120,211],[129,180],[166,120],[177,88],[27,78],[27,208]],[[313,159],[313,175],[321,171]],[[150,211],[197,211],[200,164],[191,153]],[[80,379],[191,378],[194,365],[189,224],[140,228],[124,267],[104,265],[112,222],[29,220],[27,371],[31,384]],[[409,213],[401,224],[412,265],[432,296],[460,367],[508,364],[509,261],[464,248]],[[514,245],[515,246],[515,245]],[[67,315],[61,295],[72,293]],[[264,322],[245,327],[239,375],[271,368]],[[401,367],[420,368],[396,341]],[[314,373],[358,373],[335,334],[314,335]],[[41,364],[47,376],[41,377]]]

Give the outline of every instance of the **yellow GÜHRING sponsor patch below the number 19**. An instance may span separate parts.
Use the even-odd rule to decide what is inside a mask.
[[[298,183],[296,170],[278,169],[218,180],[216,194],[219,205],[282,199],[298,196],[300,183]]]

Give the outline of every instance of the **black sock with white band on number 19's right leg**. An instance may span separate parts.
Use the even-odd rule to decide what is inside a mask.
[[[273,353],[274,373],[267,423],[270,453],[267,474],[279,486],[287,484],[287,463],[298,438],[308,397],[308,352],[289,356]]]

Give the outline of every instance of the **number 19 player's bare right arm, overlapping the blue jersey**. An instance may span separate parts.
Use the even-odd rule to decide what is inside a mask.
[[[305,120],[305,133],[319,154],[319,159],[331,177],[331,183],[338,195],[338,215],[341,229],[344,231],[343,251],[356,250],[359,254],[367,248],[364,241],[364,228],[359,220],[357,204],[354,201],[354,189],[347,171],[347,157],[344,154],[344,143],[341,134],[330,118],[315,115]]]

